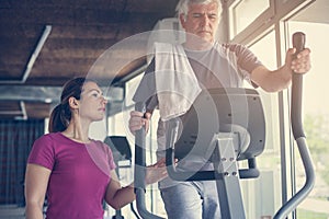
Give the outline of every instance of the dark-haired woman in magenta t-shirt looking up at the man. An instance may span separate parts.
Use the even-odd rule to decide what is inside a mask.
[[[121,187],[112,151],[88,137],[92,122],[105,114],[98,84],[84,78],[68,81],[52,112],[49,134],[34,142],[25,177],[26,218],[103,218],[102,203],[120,209],[135,199],[134,186]],[[146,184],[167,176],[164,160],[147,169]]]

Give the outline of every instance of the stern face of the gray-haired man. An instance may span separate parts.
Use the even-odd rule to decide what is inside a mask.
[[[218,5],[191,4],[186,18],[180,14],[180,20],[186,33],[201,37],[206,43],[213,43],[218,27]],[[189,41],[189,34],[186,36]]]

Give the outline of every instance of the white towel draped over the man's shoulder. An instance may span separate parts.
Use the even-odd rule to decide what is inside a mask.
[[[183,115],[201,92],[181,45],[155,44],[156,89],[162,120]]]

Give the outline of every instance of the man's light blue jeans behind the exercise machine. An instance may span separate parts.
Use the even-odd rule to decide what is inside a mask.
[[[181,182],[160,191],[168,219],[220,219],[215,181]]]

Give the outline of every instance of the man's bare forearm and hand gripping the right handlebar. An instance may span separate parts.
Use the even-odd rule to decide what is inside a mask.
[[[294,48],[288,49],[284,66],[276,70],[271,71],[264,66],[257,67],[251,72],[251,80],[268,92],[277,92],[288,88],[293,71],[305,73],[310,69],[309,48],[300,51],[295,59],[294,53]]]

